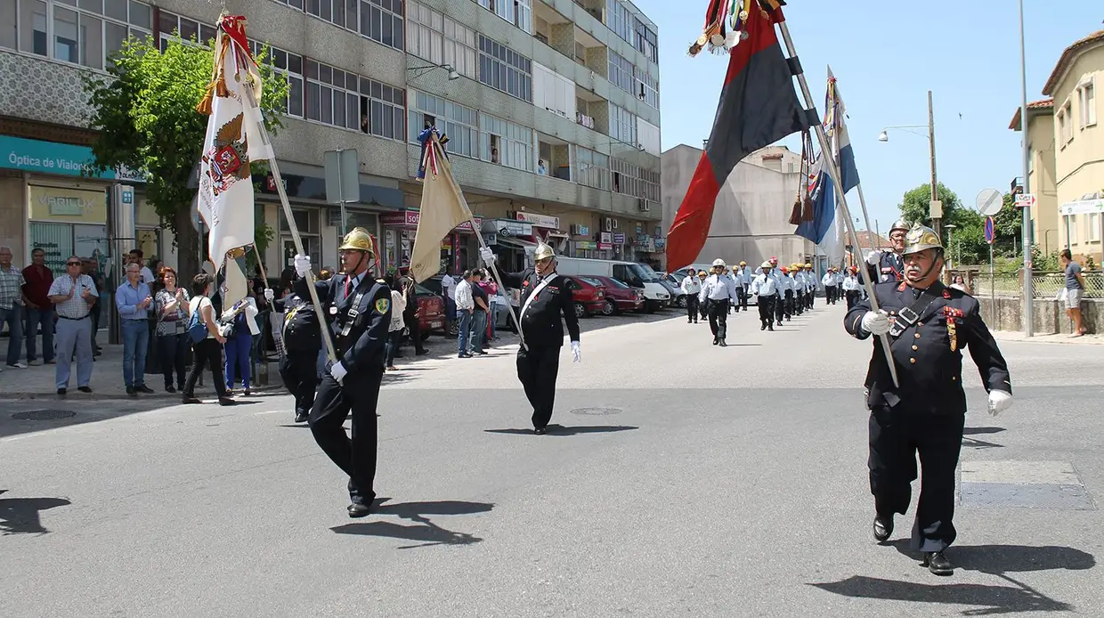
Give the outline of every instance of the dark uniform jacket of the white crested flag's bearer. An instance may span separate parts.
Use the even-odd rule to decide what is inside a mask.
[[[383,344],[391,324],[391,290],[382,279],[365,273],[360,284],[346,294],[346,275],[315,281],[318,301],[329,323],[338,360],[350,374],[383,366]],[[293,285],[295,294],[310,298],[302,277]],[[359,302],[355,302],[359,297]]]

